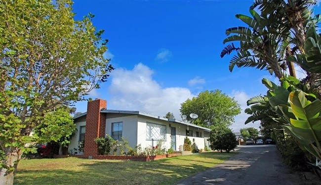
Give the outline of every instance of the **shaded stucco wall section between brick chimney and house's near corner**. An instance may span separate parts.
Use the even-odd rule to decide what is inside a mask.
[[[112,123],[122,122],[122,137],[132,148],[137,145],[137,115],[106,119],[106,134],[112,135]]]

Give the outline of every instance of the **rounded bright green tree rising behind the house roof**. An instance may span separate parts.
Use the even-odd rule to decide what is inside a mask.
[[[241,113],[240,105],[234,98],[219,90],[204,91],[197,97],[187,99],[181,104],[182,115],[197,114],[199,117],[195,124],[209,126],[228,127],[234,122],[234,117]],[[188,121],[192,118],[187,117]]]

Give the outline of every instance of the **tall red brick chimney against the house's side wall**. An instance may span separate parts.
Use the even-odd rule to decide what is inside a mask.
[[[97,137],[105,137],[106,114],[100,113],[102,108],[107,108],[107,101],[95,99],[87,103],[86,132],[84,155],[98,155],[98,147],[94,142]]]

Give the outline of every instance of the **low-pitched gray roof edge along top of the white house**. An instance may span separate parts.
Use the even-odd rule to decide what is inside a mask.
[[[152,115],[152,114],[148,114],[148,113],[144,113],[144,112],[141,112],[141,111],[125,111],[125,110],[108,110],[108,109],[102,109],[100,111],[101,113],[118,113],[118,114],[132,114],[132,115],[141,115],[141,116],[146,116],[146,117],[149,117],[149,118],[155,118],[155,119],[159,119],[159,120],[163,120],[163,121],[167,121],[167,122],[173,122],[173,123],[180,123],[180,124],[185,124],[185,125],[188,125],[188,126],[193,126],[193,127],[196,127],[196,128],[201,128],[205,131],[210,131],[209,128],[205,128],[205,127],[202,127],[202,126],[199,126],[199,125],[196,125],[196,124],[192,124],[192,123],[188,123],[188,122],[184,122],[184,121],[181,121],[181,120],[176,120],[176,119],[167,119],[167,118],[163,118],[161,116],[155,116],[155,115]],[[87,114],[87,112],[85,113],[82,113],[80,115],[77,115],[74,117],[74,120],[77,119],[77,118],[80,118],[82,116],[85,116]]]

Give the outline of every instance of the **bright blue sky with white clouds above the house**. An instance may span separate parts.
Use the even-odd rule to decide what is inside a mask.
[[[264,95],[261,80],[277,80],[268,71],[234,68],[233,57],[220,58],[225,30],[245,26],[236,14],[249,14],[253,0],[75,0],[75,19],[89,12],[93,25],[105,30],[108,51],[116,69],[100,89],[87,97],[107,100],[107,109],[136,110],[156,116],[167,112],[181,120],[180,106],[203,91],[221,90],[241,105],[241,114],[230,128],[259,127],[244,124],[246,101]],[[321,8],[315,6],[315,12]],[[299,78],[305,77],[296,68]],[[86,112],[77,102],[77,112]]]

